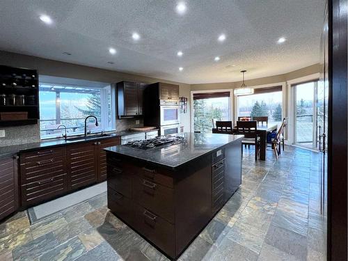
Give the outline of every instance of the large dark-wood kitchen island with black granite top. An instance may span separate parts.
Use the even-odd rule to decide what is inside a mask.
[[[148,150],[106,148],[109,209],[171,259],[242,182],[243,136],[180,136],[180,143]]]

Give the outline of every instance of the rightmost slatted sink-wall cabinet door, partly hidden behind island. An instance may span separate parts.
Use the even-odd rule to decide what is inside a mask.
[[[106,152],[104,148],[116,146],[121,144],[121,138],[116,137],[113,139],[106,139],[99,142],[97,149],[97,169],[98,169],[98,182],[106,180]]]

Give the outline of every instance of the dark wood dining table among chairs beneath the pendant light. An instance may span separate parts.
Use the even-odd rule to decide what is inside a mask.
[[[266,150],[267,150],[267,134],[269,132],[274,132],[278,129],[278,124],[276,123],[267,123],[263,125],[258,125],[256,129],[257,135],[260,137],[260,157],[261,160],[266,160]],[[230,131],[221,132],[216,128],[212,129],[212,133],[223,133],[223,134],[237,134],[237,126],[233,127]]]

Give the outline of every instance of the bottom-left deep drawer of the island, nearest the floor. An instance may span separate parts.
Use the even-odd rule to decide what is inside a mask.
[[[129,223],[129,225],[133,225],[132,200],[113,190],[111,187],[108,187],[107,198],[108,208],[111,212]]]

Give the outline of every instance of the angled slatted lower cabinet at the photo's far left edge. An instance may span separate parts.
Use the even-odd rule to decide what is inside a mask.
[[[0,220],[18,209],[17,157],[0,159]]]

